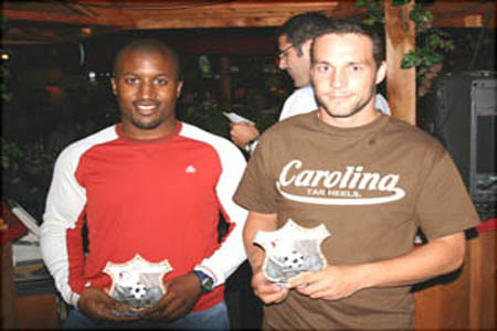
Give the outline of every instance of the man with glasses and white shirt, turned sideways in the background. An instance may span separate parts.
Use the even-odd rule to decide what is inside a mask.
[[[290,18],[278,30],[278,67],[288,73],[297,87],[285,100],[279,121],[318,108],[310,86],[310,46],[313,38],[327,22],[329,19],[320,12],[305,12]],[[391,115],[389,105],[381,95],[377,95],[376,107]],[[250,153],[254,151],[260,136],[260,131],[251,122],[231,124],[231,139]]]

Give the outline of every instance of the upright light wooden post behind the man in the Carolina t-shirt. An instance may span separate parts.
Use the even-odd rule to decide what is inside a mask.
[[[387,94],[392,115],[409,124],[416,121],[416,73],[401,68],[403,55],[415,47],[415,25],[409,19],[414,1],[402,7],[384,1],[387,36]]]

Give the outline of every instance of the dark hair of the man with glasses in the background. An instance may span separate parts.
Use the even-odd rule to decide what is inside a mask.
[[[309,39],[315,38],[316,33],[329,21],[328,17],[318,11],[309,11],[287,20],[278,30],[277,35],[286,35],[288,43],[297,49],[298,55],[302,55],[300,45]]]

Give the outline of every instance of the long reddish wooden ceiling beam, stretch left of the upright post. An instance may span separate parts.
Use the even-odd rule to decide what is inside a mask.
[[[8,2],[9,3],[9,2]],[[218,26],[275,26],[292,15],[305,11],[324,11],[331,15],[337,9],[353,10],[353,1],[232,1],[191,8],[168,7],[168,2],[147,7],[150,2],[80,1],[54,2],[70,9],[71,14],[29,11],[8,6],[2,10],[8,20],[59,22],[80,25],[112,25],[124,29],[218,28]],[[103,6],[106,4],[106,6]],[[133,6],[131,6],[133,4]],[[46,4],[45,4],[46,6]],[[202,22],[205,21],[205,22]],[[211,25],[212,24],[212,25]]]

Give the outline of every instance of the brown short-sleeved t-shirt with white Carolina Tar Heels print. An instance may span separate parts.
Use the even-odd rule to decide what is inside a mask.
[[[478,224],[445,149],[431,136],[381,116],[358,128],[324,124],[317,113],[274,125],[261,138],[235,194],[242,206],[305,227],[325,224],[329,264],[383,260]],[[290,291],[265,307],[265,328],[410,329],[410,287],[370,288],[336,301]]]

